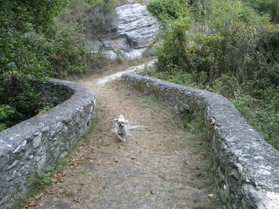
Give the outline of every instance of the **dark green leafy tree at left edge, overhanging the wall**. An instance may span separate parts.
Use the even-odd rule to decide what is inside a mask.
[[[0,115],[13,125],[37,113],[44,100],[36,84],[45,80],[50,62],[45,56],[47,39],[55,33],[54,17],[68,0],[0,1]]]

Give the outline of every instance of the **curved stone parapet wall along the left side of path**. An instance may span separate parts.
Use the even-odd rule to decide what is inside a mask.
[[[58,79],[48,84],[51,100],[61,103],[57,94],[68,100],[0,132],[0,208],[10,208],[18,196],[26,194],[36,171],[52,169],[95,118],[95,95],[88,88]]]

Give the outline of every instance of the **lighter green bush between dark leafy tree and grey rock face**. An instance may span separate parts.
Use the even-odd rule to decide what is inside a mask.
[[[77,23],[59,24],[52,40],[48,42],[47,59],[52,66],[52,77],[82,75],[88,70],[90,54],[84,44],[82,26]]]

